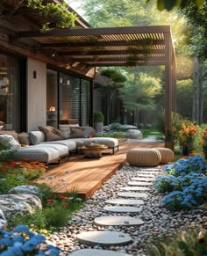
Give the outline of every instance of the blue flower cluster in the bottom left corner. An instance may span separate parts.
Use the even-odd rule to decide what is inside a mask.
[[[58,256],[60,249],[48,245],[46,238],[34,234],[25,225],[18,225],[13,231],[0,230],[1,256]]]

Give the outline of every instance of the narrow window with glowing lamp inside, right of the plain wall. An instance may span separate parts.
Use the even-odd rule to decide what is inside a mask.
[[[58,73],[46,70],[46,125],[58,127]]]

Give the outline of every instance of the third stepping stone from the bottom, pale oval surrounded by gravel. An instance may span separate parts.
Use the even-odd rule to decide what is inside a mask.
[[[94,223],[98,226],[139,226],[144,222],[129,216],[101,216],[96,217]]]

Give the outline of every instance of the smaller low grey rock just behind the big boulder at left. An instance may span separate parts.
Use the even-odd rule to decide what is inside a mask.
[[[39,187],[32,185],[12,187],[7,194],[33,194],[41,198]]]

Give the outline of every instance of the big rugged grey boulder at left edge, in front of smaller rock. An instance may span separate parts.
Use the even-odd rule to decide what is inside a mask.
[[[40,199],[32,194],[0,195],[0,209],[9,221],[18,213],[32,214],[35,208],[42,208]]]

